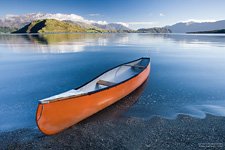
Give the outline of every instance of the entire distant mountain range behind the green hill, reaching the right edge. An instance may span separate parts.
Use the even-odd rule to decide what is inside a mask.
[[[55,19],[71,23],[75,26],[80,26],[80,28],[89,29],[90,32],[187,33],[225,29],[225,20],[221,20],[216,22],[180,22],[164,28],[148,28],[134,31],[123,25],[123,23],[87,20],[76,14],[30,13],[25,15],[6,15],[0,18],[0,32],[15,31],[33,21],[44,19]]]

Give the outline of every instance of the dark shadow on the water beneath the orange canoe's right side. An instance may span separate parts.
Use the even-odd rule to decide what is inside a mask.
[[[97,114],[85,119],[80,122],[87,123],[92,121],[107,121],[107,120],[117,120],[119,118],[123,118],[123,114],[126,113],[140,98],[143,93],[148,80],[146,80],[140,87],[138,87],[135,91],[122,98],[115,104],[103,109]]]

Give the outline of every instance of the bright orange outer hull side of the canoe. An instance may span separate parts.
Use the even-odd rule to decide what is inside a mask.
[[[127,96],[147,80],[149,73],[150,65],[137,76],[111,88],[79,97],[39,103],[37,126],[46,135],[56,134]]]

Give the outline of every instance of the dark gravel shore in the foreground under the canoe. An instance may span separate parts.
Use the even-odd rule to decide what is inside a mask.
[[[143,89],[53,136],[37,128],[2,132],[0,149],[225,149],[225,117],[143,120],[121,116]]]

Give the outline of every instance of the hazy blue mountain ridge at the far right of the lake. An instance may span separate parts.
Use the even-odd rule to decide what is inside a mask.
[[[166,26],[173,33],[186,33],[186,32],[198,32],[198,31],[210,31],[225,29],[225,20],[216,22],[180,22],[172,26]]]

